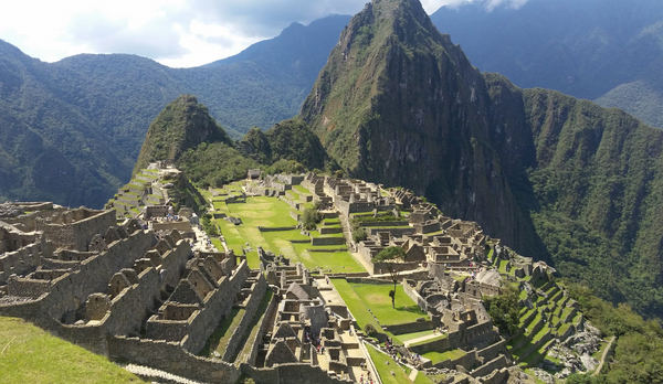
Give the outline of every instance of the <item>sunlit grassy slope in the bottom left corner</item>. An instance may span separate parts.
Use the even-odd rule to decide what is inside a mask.
[[[13,318],[0,318],[0,382],[143,383],[105,358]]]

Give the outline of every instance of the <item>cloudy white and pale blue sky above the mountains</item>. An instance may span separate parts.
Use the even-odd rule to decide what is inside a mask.
[[[520,7],[527,0],[421,0],[427,12],[463,1]],[[272,39],[292,22],[355,14],[368,0],[22,0],[2,6],[0,40],[56,62],[81,53],[130,53],[192,67]]]

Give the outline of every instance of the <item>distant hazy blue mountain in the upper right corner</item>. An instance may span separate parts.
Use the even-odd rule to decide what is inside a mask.
[[[473,1],[443,7],[431,19],[482,72],[663,127],[662,1],[528,0],[518,9]]]

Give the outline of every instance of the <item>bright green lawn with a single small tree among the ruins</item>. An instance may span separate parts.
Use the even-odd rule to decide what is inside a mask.
[[[364,306],[370,309],[383,326],[402,324],[414,322],[418,318],[428,318],[428,314],[421,311],[417,303],[406,295],[400,285],[396,287],[396,309],[391,308],[391,298],[389,297],[392,285],[350,282],[349,286]]]

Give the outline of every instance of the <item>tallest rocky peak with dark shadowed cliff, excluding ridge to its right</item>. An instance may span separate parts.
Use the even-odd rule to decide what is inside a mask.
[[[532,232],[493,147],[491,108],[482,75],[419,1],[378,0],[343,32],[302,117],[349,174],[410,188],[518,247]]]

